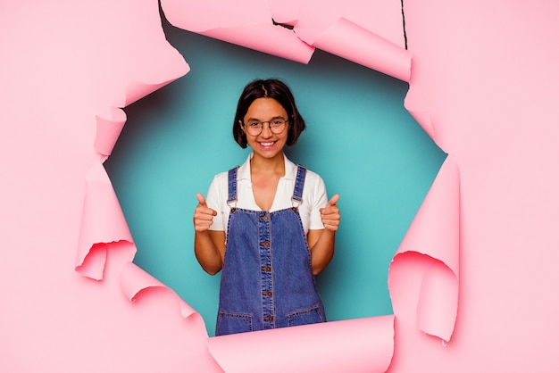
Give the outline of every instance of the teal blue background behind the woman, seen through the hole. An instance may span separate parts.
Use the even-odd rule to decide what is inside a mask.
[[[200,312],[214,335],[220,275],[194,256],[196,193],[246,159],[231,135],[242,88],[280,78],[307,122],[288,157],[340,195],[336,255],[317,277],[327,317],[393,313],[388,265],[446,157],[405,110],[407,83],[318,50],[304,65],[164,20],[163,29],[191,71],[125,109],[104,163],[138,247],[134,262]]]

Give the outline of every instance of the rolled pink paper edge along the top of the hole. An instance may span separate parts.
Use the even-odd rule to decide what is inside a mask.
[[[266,21],[233,22],[228,26],[203,29],[192,24],[193,21],[184,21],[173,14],[173,11],[182,9],[180,4],[162,2],[162,8],[173,26],[231,44],[301,63],[308,63],[314,48],[319,48],[396,79],[405,82],[410,79],[411,54],[405,48],[343,17],[326,30],[317,31],[320,35],[300,37],[297,35],[297,20],[289,21],[294,27],[287,29],[273,23],[271,10]]]

